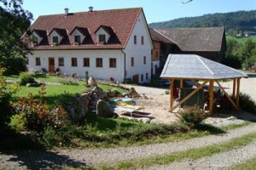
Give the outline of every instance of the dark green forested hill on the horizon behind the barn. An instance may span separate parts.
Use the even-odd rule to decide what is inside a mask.
[[[215,27],[225,26],[226,31],[256,31],[256,10],[231,13],[204,14],[149,24],[151,28]],[[230,30],[231,29],[231,30]]]

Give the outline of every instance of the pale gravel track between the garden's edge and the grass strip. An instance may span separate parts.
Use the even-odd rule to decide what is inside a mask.
[[[0,151],[0,169],[3,167],[25,166],[29,169],[52,167],[53,165],[94,166],[99,163],[112,163],[147,156],[170,154],[175,151],[200,148],[219,144],[230,139],[256,132],[256,123],[240,127],[220,135],[210,135],[198,139],[166,144],[147,144],[137,147],[85,150],[13,150]],[[254,147],[255,144],[254,144]],[[225,159],[223,159],[225,161]],[[237,162],[237,161],[236,161]]]

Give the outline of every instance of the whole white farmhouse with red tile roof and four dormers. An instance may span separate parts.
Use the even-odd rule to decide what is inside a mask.
[[[143,8],[93,10],[39,16],[28,36],[33,38],[28,70],[123,82],[148,82],[159,62],[151,62],[153,42]],[[154,67],[153,65],[156,65]]]

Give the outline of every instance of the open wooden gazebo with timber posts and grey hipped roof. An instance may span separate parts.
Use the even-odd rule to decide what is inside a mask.
[[[178,106],[183,105],[191,96],[197,93],[200,89],[209,83],[209,112],[213,111],[213,85],[214,82],[230,100],[230,103],[238,110],[239,109],[239,90],[241,77],[248,77],[247,74],[230,68],[229,66],[219,64],[210,59],[205,59],[195,54],[169,54],[166,59],[166,64],[160,75],[163,79],[171,81],[171,97],[170,111],[174,111]],[[181,99],[177,105],[173,105],[173,89],[174,81],[180,81],[180,88],[183,88],[183,80],[204,81],[200,86],[195,88],[190,94]],[[233,95],[230,95],[224,90],[219,80],[233,81]]]

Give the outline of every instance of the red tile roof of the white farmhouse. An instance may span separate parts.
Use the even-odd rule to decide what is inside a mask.
[[[52,14],[39,16],[30,28],[30,31],[46,31],[48,36],[53,29],[63,31],[67,34],[57,46],[50,46],[49,37],[44,37],[42,42],[36,47],[37,49],[84,49],[84,48],[125,48],[129,40],[131,31],[136,24],[139,14],[143,8],[123,8],[100,10],[93,12],[81,12],[71,14]],[[95,31],[100,27],[113,29],[113,34],[108,43],[96,43]],[[90,36],[84,39],[80,45],[73,46],[73,37],[71,32],[78,27],[80,30],[90,31]]]

